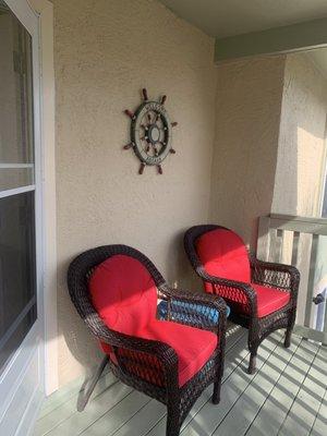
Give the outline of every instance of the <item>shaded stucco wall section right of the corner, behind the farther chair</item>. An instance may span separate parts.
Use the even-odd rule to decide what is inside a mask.
[[[255,246],[257,218],[270,213],[286,58],[218,66],[210,220]]]

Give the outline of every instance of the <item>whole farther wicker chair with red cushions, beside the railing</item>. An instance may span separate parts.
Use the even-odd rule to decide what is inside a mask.
[[[239,268],[241,268],[240,258],[237,258],[231,267],[227,265],[223,266],[223,268],[227,267],[227,269],[223,270],[223,277],[216,276],[213,271],[210,271],[210,274],[208,271],[208,258],[204,259],[203,253],[202,255],[199,254],[198,244],[199,241],[204,241],[203,238],[205,237],[206,241],[213,244],[211,251],[213,247],[215,251],[214,244],[216,244],[217,240],[213,240],[213,232],[215,232],[216,237],[219,237],[219,231],[221,230],[230,232],[238,245],[241,246],[244,244],[240,237],[229,229],[221,226],[204,225],[192,227],[186,231],[184,235],[184,249],[194,270],[203,279],[205,290],[223,298],[231,308],[229,318],[233,323],[249,329],[249,350],[251,352],[249,373],[253,374],[255,372],[258,346],[270,332],[280,328],[287,328],[284,347],[288,348],[290,346],[296,314],[300,272],[293,266],[258,261],[254,256],[251,256],[245,245],[243,245],[246,258],[245,262],[249,264],[249,281],[240,281],[239,279]],[[240,247],[234,246],[229,250],[230,252],[235,250],[237,253]],[[211,261],[218,261],[219,263],[219,259]],[[267,311],[268,313],[263,316],[259,314],[261,302],[258,304],[258,289],[262,292],[262,298],[267,299],[267,295],[275,290],[283,302],[287,301],[287,303],[279,303],[279,306],[277,304],[277,310]],[[266,295],[265,292],[267,292]],[[288,294],[283,295],[283,292]]]

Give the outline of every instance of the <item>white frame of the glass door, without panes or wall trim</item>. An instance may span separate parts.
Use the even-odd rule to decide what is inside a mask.
[[[36,283],[37,319],[1,372],[0,425],[3,434],[28,435],[36,419],[38,407],[45,395],[45,355],[47,341],[45,331],[45,234],[44,225],[44,181],[45,155],[43,143],[39,20],[26,0],[7,0],[9,8],[32,35],[33,45],[33,112],[35,185],[11,190],[11,194],[35,192],[36,231]],[[16,192],[13,192],[16,191]],[[4,196],[8,193],[1,193]],[[1,433],[1,434],[2,434]]]

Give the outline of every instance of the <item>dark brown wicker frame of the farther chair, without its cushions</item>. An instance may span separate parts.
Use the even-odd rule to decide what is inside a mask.
[[[287,328],[284,346],[290,346],[296,314],[300,272],[293,266],[262,262],[250,255],[252,282],[278,288],[290,293],[289,304],[272,314],[259,318],[257,315],[256,293],[251,284],[210,276],[206,272],[197,256],[197,239],[206,232],[217,229],[226,228],[215,225],[192,227],[184,235],[184,249],[196,274],[204,282],[211,284],[214,294],[226,299],[228,305],[231,306],[230,319],[249,329],[249,349],[251,351],[249,373],[252,374],[255,371],[257,348],[270,332]],[[245,311],[240,311],[240,304],[245,305]]]

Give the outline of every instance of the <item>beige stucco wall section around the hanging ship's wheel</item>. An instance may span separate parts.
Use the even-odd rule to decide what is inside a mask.
[[[183,231],[206,222],[214,144],[214,40],[154,0],[55,0],[60,385],[95,364],[65,286],[69,262],[100,244],[147,254],[170,282],[194,277]],[[129,119],[145,86],[168,95],[175,156],[137,174]]]

